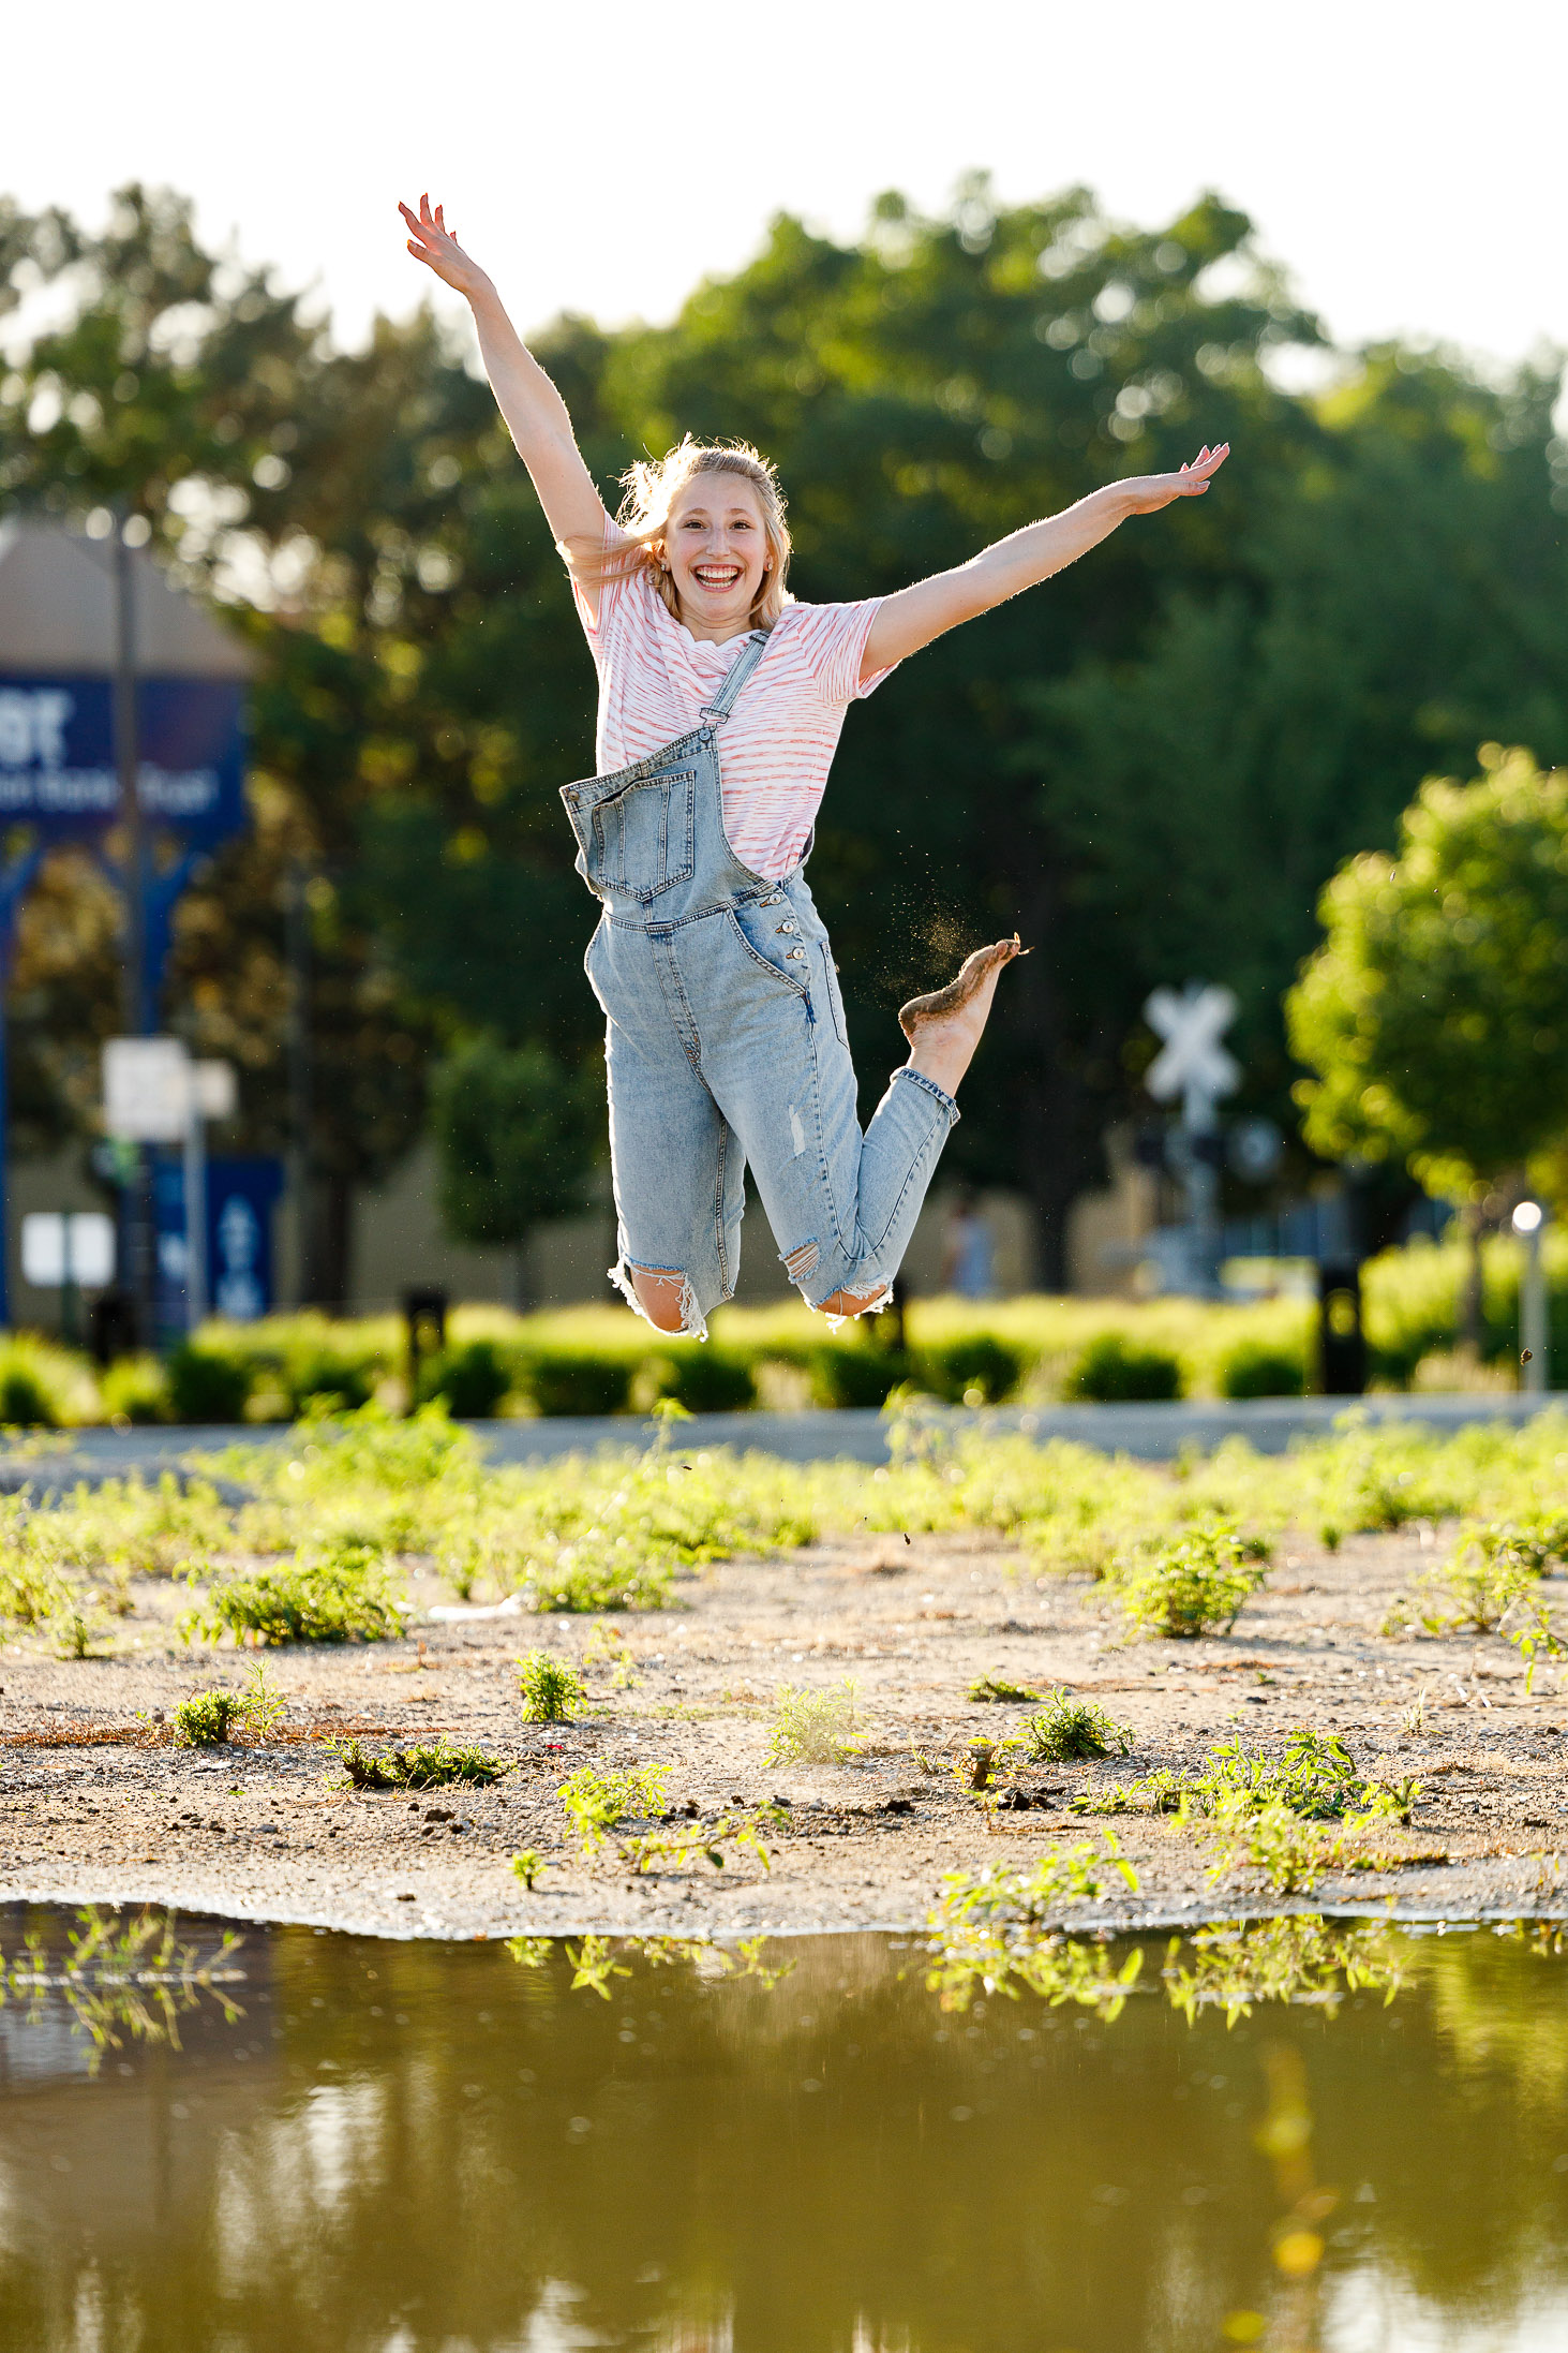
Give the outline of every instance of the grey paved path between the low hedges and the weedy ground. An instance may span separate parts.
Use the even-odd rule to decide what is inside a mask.
[[[1182,1447],[1208,1449],[1222,1438],[1246,1438],[1260,1454],[1284,1454],[1293,1438],[1307,1438],[1333,1428],[1335,1419],[1352,1405],[1371,1421],[1425,1421],[1436,1431],[1458,1431],[1474,1421],[1528,1421],[1540,1405],[1556,1412],[1568,1409],[1568,1393],[1559,1391],[1547,1400],[1519,1395],[1432,1395],[1432,1398],[1246,1398],[1237,1402],[1175,1402],[1175,1405],[1001,1405],[987,1412],[950,1407],[938,1414],[954,1428],[976,1424],[997,1431],[1025,1431],[1046,1445],[1051,1438],[1070,1438],[1077,1445],[1098,1447],[1105,1454],[1135,1454],[1143,1461],[1173,1461]],[[599,1447],[649,1445],[656,1424],[630,1414],[576,1417],[562,1414],[548,1421],[473,1421],[473,1433],[484,1442],[491,1461],[548,1461],[552,1454],[597,1452]],[[61,1452],[33,1452],[28,1447],[0,1449],[0,1492],[16,1487],[54,1489],[73,1480],[122,1478],[139,1471],[158,1478],[160,1471],[179,1471],[190,1454],[216,1452],[235,1438],[263,1445],[284,1445],[287,1428],[266,1426],[254,1431],[235,1428],[136,1428],[136,1431],[73,1431]],[[679,1424],[682,1447],[759,1447],[780,1454],[785,1461],[832,1461],[837,1457],[863,1464],[889,1459],[886,1424],[877,1412],[842,1414],[693,1414]]]

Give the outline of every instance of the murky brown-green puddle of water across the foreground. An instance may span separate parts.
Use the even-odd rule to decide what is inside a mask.
[[[0,2353],[1568,2341],[1549,1939],[1258,1925],[943,2007],[884,1937],[127,1925],[0,1913]]]

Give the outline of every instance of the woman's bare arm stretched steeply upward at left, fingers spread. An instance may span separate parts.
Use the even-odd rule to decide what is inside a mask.
[[[430,212],[430,198],[421,195],[418,212],[409,212],[407,205],[397,209],[409,224],[414,259],[463,294],[473,311],[496,407],[505,416],[517,456],[529,468],[550,529],[567,555],[592,562],[604,548],[609,518],[576,445],[567,402],[512,327],[484,271],[447,228],[442,207]]]

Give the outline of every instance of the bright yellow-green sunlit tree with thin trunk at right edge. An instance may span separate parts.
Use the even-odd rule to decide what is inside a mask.
[[[1326,939],[1286,1000],[1307,1141],[1403,1160],[1465,1202],[1479,1240],[1500,1179],[1568,1132],[1568,772],[1481,751],[1434,776],[1399,852],[1349,859]],[[1469,1322],[1479,1315],[1479,1259]]]

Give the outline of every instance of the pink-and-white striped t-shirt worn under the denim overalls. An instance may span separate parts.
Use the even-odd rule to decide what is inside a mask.
[[[712,704],[745,635],[724,645],[693,638],[644,565],[599,588],[597,628],[576,584],[574,595],[599,673],[597,762],[609,776],[701,727],[703,704]],[[877,671],[860,685],[879,602],[785,605],[719,729],[729,847],[769,882],[799,864],[846,708],[889,675]]]

